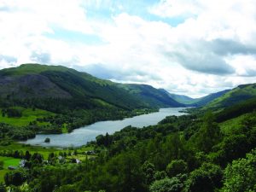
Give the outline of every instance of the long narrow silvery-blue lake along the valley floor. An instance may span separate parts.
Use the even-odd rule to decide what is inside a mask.
[[[93,141],[98,135],[112,134],[115,131],[120,131],[128,125],[142,128],[148,125],[157,125],[161,119],[165,119],[166,116],[170,115],[183,115],[179,111],[184,108],[160,108],[159,112],[148,113],[143,115],[138,115],[132,118],[122,119],[122,120],[108,120],[96,122],[92,125],[85,125],[79,129],[75,129],[71,133],[63,134],[38,134],[35,138],[28,139],[26,143],[31,145],[39,145],[44,147],[79,147],[87,142]],[[49,137],[50,143],[44,143],[46,137]]]

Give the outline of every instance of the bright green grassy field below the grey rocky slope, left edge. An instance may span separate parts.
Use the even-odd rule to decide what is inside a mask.
[[[2,108],[0,108],[2,110]],[[29,125],[30,122],[37,120],[38,118],[49,117],[50,115],[55,115],[55,113],[51,113],[48,111],[44,111],[41,109],[32,110],[32,108],[19,108],[22,112],[22,117],[20,118],[9,118],[7,115],[5,117],[0,114],[0,122],[15,125],[15,126],[24,126]],[[48,123],[39,123],[38,125],[47,125]]]

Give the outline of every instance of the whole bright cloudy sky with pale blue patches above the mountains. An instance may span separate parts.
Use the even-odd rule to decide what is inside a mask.
[[[205,96],[256,82],[256,0],[0,0],[0,68],[63,65]]]

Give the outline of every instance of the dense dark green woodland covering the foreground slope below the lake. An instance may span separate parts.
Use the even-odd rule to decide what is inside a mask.
[[[6,174],[5,184],[38,192],[255,191],[256,113],[243,114],[232,131],[217,123],[219,114],[170,116],[98,136],[90,143],[97,158],[81,164],[44,165],[42,155],[23,154],[26,168]]]

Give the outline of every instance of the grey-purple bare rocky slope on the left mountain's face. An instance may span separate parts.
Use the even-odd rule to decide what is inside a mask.
[[[65,90],[40,74],[0,76],[0,97],[14,98],[72,98]]]

